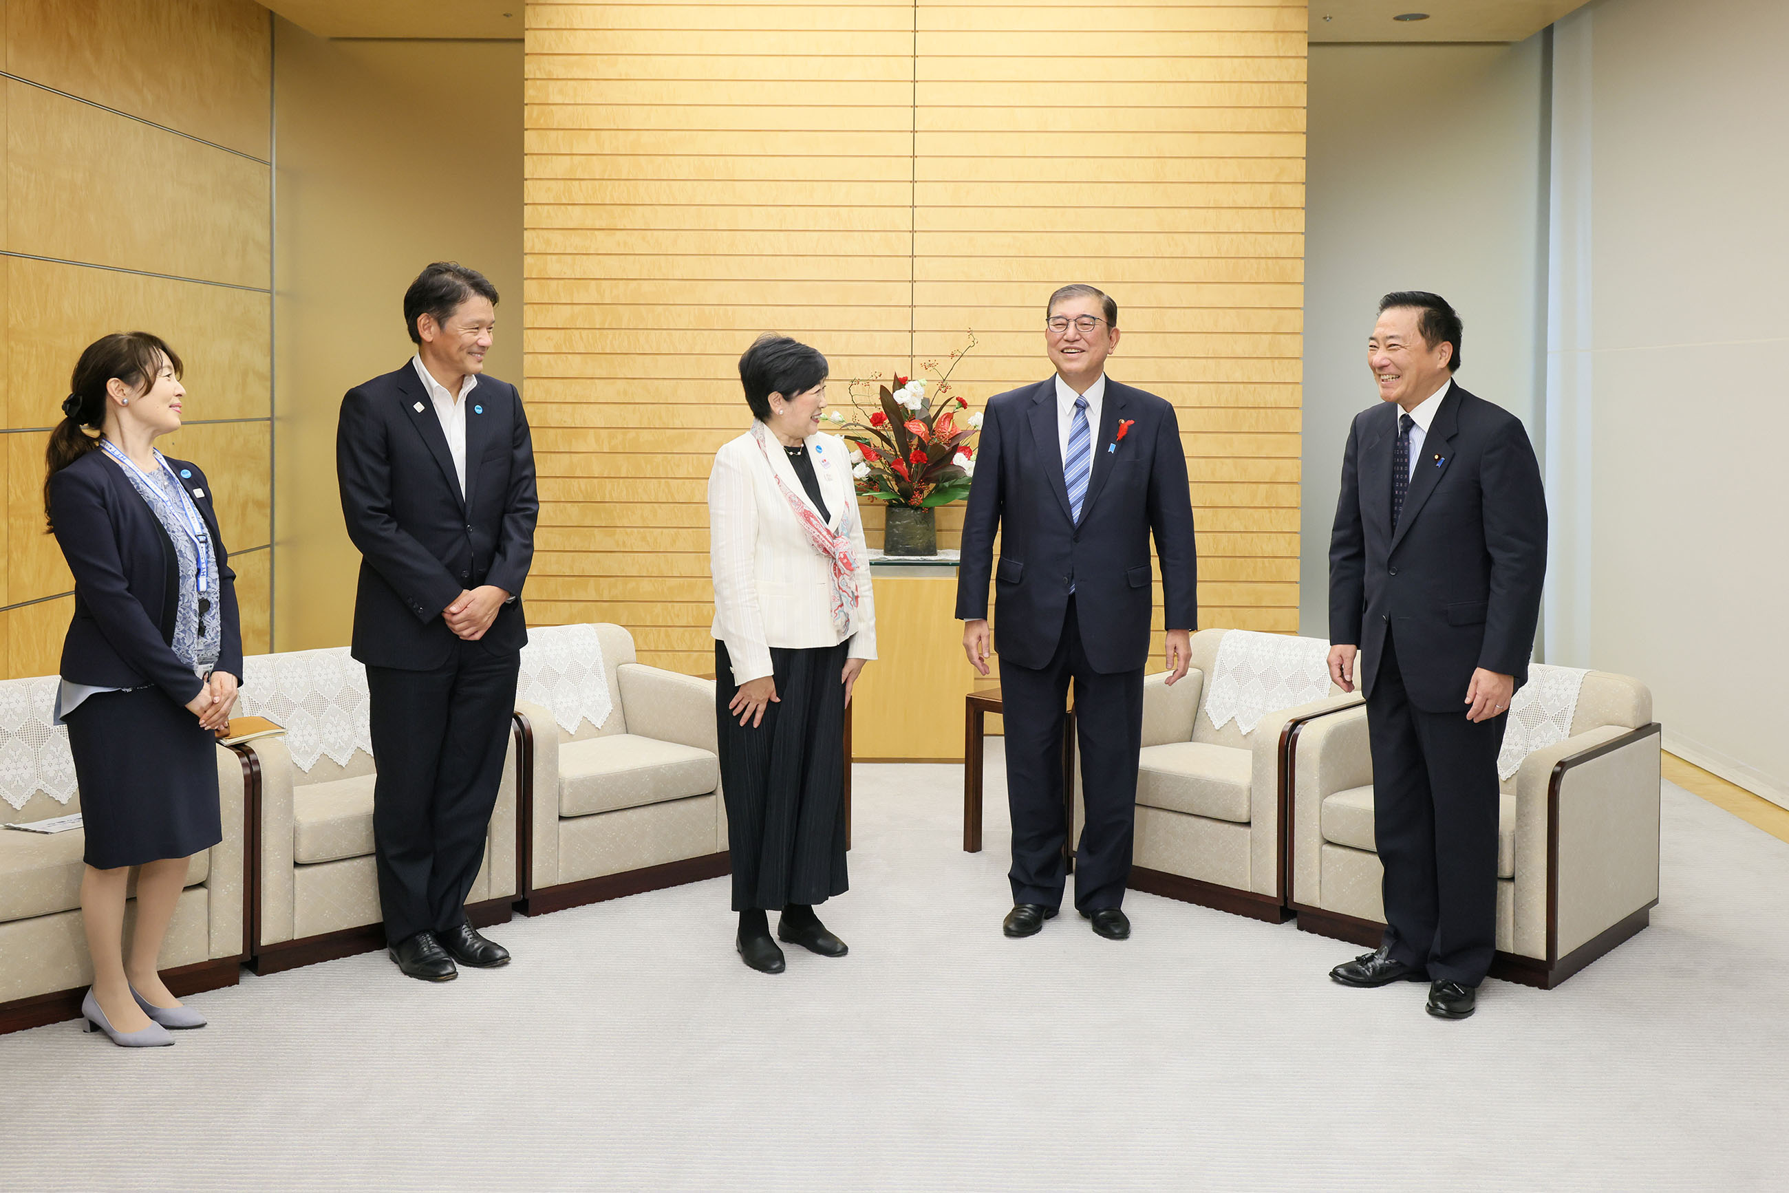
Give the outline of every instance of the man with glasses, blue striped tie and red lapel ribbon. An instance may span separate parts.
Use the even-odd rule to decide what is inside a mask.
[[[1199,621],[1193,506],[1174,406],[1106,377],[1118,304],[1063,286],[1045,309],[1056,376],[988,401],[962,522],[957,617],[962,649],[988,674],[993,571],[1013,810],[1007,935],[1056,916],[1066,885],[1063,712],[1075,683],[1086,825],[1075,907],[1107,939],[1131,935],[1123,891],[1136,826],[1149,662],[1149,540],[1161,558],[1168,683],[1186,674]]]

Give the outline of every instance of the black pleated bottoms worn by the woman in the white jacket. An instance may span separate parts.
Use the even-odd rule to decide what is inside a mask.
[[[757,728],[726,705],[739,689],[726,644],[714,644],[714,715],[719,724],[726,844],[733,910],[776,910],[844,894],[844,671],[846,642],[771,647],[778,703]]]

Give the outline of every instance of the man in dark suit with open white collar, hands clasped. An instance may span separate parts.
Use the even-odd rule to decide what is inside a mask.
[[[417,354],[342,399],[336,474],[360,547],[354,658],[379,767],[372,832],[392,960],[445,982],[510,953],[465,918],[528,642],[535,456],[515,386],[483,376],[497,290],[437,261],[404,293]]]

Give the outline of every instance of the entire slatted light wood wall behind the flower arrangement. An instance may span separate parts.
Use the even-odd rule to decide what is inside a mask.
[[[1174,401],[1204,626],[1297,630],[1302,4],[530,4],[537,622],[701,673],[705,481],[759,331],[853,376],[1048,376],[1043,304],[1118,300]],[[880,508],[866,508],[880,528]],[[941,512],[955,546],[961,506]],[[875,535],[875,529],[873,529]],[[1159,653],[1159,612],[1157,612]]]

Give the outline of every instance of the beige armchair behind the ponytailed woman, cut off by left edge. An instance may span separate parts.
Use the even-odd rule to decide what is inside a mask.
[[[11,685],[34,685],[32,699],[55,698],[54,676],[0,683]],[[57,733],[66,735],[66,730]],[[234,986],[242,973],[245,776],[242,760],[229,749],[220,746],[216,760],[224,841],[188,866],[186,891],[175,903],[157,960],[175,994]],[[43,821],[79,810],[79,791],[61,803],[38,789],[16,810],[11,803],[0,807],[0,821]],[[81,998],[93,982],[81,926],[84,846],[86,833],[79,828],[54,835],[0,830],[0,1032],[81,1016]],[[132,894],[134,889],[132,875]]]

